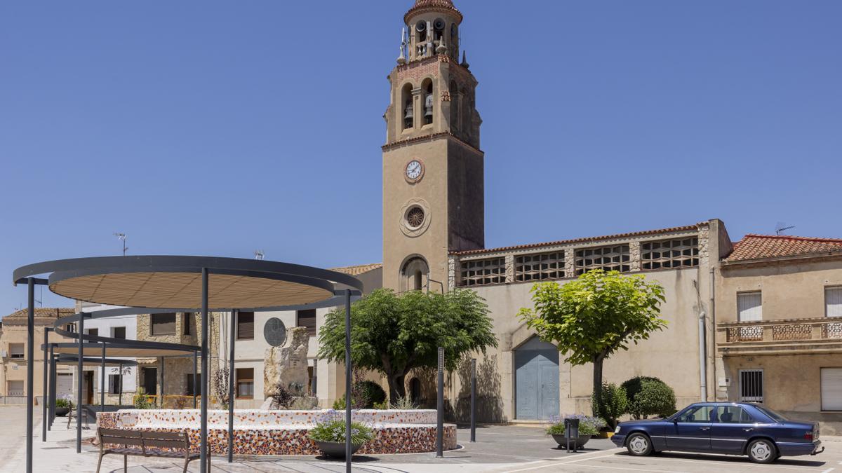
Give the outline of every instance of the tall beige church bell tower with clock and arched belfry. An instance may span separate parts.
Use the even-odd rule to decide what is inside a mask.
[[[477,79],[451,0],[416,0],[403,20],[384,115],[383,287],[443,290],[448,252],[485,244]]]

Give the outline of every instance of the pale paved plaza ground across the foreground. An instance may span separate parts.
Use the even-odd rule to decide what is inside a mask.
[[[25,469],[26,451],[24,407],[0,407],[0,471],[21,472]],[[83,445],[83,453],[76,453],[75,431],[67,423],[56,422],[47,433],[48,441],[41,442],[40,409],[35,413],[35,471],[87,472],[94,471],[97,450],[90,444]],[[84,430],[85,437],[93,436],[93,428]],[[592,439],[584,451],[568,454],[557,449],[552,438],[541,428],[517,426],[488,426],[477,429],[477,443],[471,444],[470,432],[459,429],[461,449],[445,452],[444,459],[434,454],[358,455],[354,456],[354,471],[360,472],[475,472],[493,473],[548,473],[550,471],[658,471],[710,473],[760,472],[786,473],[842,472],[842,438],[823,438],[826,450],[817,456],[791,457],[773,465],[754,465],[745,457],[724,455],[664,453],[652,457],[631,457],[625,449],[616,449],[605,439]],[[318,457],[253,457],[237,459],[229,464],[221,457],[214,457],[213,471],[257,472],[279,471],[299,473],[328,473],[344,471],[344,462],[322,460]],[[131,473],[176,473],[182,465],[178,460],[129,458]],[[123,470],[123,460],[106,456],[104,473]],[[198,472],[199,462],[194,461],[189,471]]]

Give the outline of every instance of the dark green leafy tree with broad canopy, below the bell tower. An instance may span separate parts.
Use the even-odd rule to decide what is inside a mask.
[[[465,353],[497,347],[492,327],[485,300],[472,290],[375,290],[351,306],[351,360],[354,368],[385,375],[390,399],[406,397],[406,375],[413,368],[435,368],[439,347],[449,370]],[[344,363],[344,307],[325,317],[319,346],[319,358]]]

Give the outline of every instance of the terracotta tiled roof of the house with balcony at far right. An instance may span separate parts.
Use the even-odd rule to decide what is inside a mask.
[[[842,254],[842,239],[754,235],[749,233],[734,244],[733,252],[725,258],[725,261],[806,256],[829,252]]]

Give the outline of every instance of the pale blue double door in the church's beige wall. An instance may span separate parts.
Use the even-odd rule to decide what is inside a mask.
[[[532,338],[514,352],[515,417],[558,415],[558,349]]]

